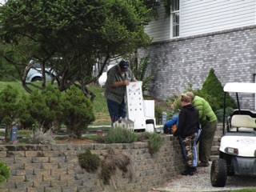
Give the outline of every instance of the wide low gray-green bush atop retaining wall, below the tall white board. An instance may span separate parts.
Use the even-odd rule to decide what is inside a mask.
[[[131,143],[137,141],[138,135],[132,130],[122,127],[110,129],[104,136],[106,143]]]

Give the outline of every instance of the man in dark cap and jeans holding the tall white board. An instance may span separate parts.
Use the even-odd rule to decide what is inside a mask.
[[[112,126],[119,118],[126,117],[126,86],[130,82],[137,82],[137,79],[129,69],[128,62],[121,61],[107,72],[105,96]]]

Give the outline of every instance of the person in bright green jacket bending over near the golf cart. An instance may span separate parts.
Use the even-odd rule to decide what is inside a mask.
[[[199,161],[198,166],[209,166],[211,147],[214,141],[215,130],[217,129],[217,117],[211,106],[204,98],[195,96],[192,92],[186,92],[191,98],[192,104],[199,112],[200,124],[202,126],[201,138],[199,140]]]

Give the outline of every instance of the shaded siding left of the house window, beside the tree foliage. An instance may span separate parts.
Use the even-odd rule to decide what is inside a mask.
[[[150,22],[145,29],[154,42],[170,39],[170,18],[165,18],[166,13],[163,6],[158,7],[158,14],[158,19]]]

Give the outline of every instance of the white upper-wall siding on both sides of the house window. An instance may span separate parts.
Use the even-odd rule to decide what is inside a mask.
[[[172,18],[158,7],[158,19],[146,26],[154,42],[172,38]],[[255,0],[180,0],[179,37],[256,24]]]

